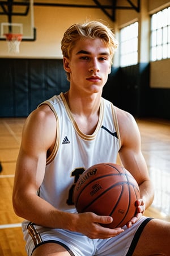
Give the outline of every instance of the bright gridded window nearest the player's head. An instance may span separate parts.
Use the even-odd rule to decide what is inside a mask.
[[[138,63],[138,22],[120,30],[120,67]]]

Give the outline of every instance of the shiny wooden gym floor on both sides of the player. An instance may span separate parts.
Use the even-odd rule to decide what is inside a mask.
[[[12,186],[25,118],[0,118],[0,255],[26,256],[22,218],[12,209]],[[137,119],[142,151],[155,185],[154,203],[145,214],[170,221],[170,121]]]

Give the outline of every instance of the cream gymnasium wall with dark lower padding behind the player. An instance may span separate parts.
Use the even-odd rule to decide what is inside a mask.
[[[35,6],[36,41],[22,42],[19,55],[9,55],[6,42],[0,41],[0,117],[27,116],[46,98],[65,92],[69,84],[62,67],[63,32],[73,23],[101,19],[113,27],[117,39],[121,27],[134,20],[140,24],[138,64],[120,68],[117,51],[103,96],[136,117],[170,119],[169,59],[162,64],[156,61],[156,65],[160,64],[159,72],[153,66],[155,63],[149,61],[148,11],[153,8],[152,2],[142,0],[140,13],[117,10],[116,22],[99,9]],[[164,5],[168,1],[161,2]],[[158,7],[159,4],[154,5]],[[160,76],[163,72],[167,76]],[[158,79],[153,80],[156,76]]]

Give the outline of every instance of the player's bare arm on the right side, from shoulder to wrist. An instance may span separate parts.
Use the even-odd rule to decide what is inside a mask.
[[[121,135],[120,158],[124,167],[131,172],[139,184],[142,200],[137,205],[141,204],[138,211],[143,212],[154,199],[154,188],[141,152],[141,135],[132,115],[122,110],[117,112]]]

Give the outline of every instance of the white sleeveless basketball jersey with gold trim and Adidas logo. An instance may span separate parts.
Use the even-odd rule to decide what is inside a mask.
[[[86,135],[76,125],[63,93],[42,104],[48,104],[56,116],[57,136],[39,196],[59,210],[76,212],[73,190],[79,175],[97,163],[116,163],[120,149],[116,112],[111,102],[101,98],[97,127]]]

